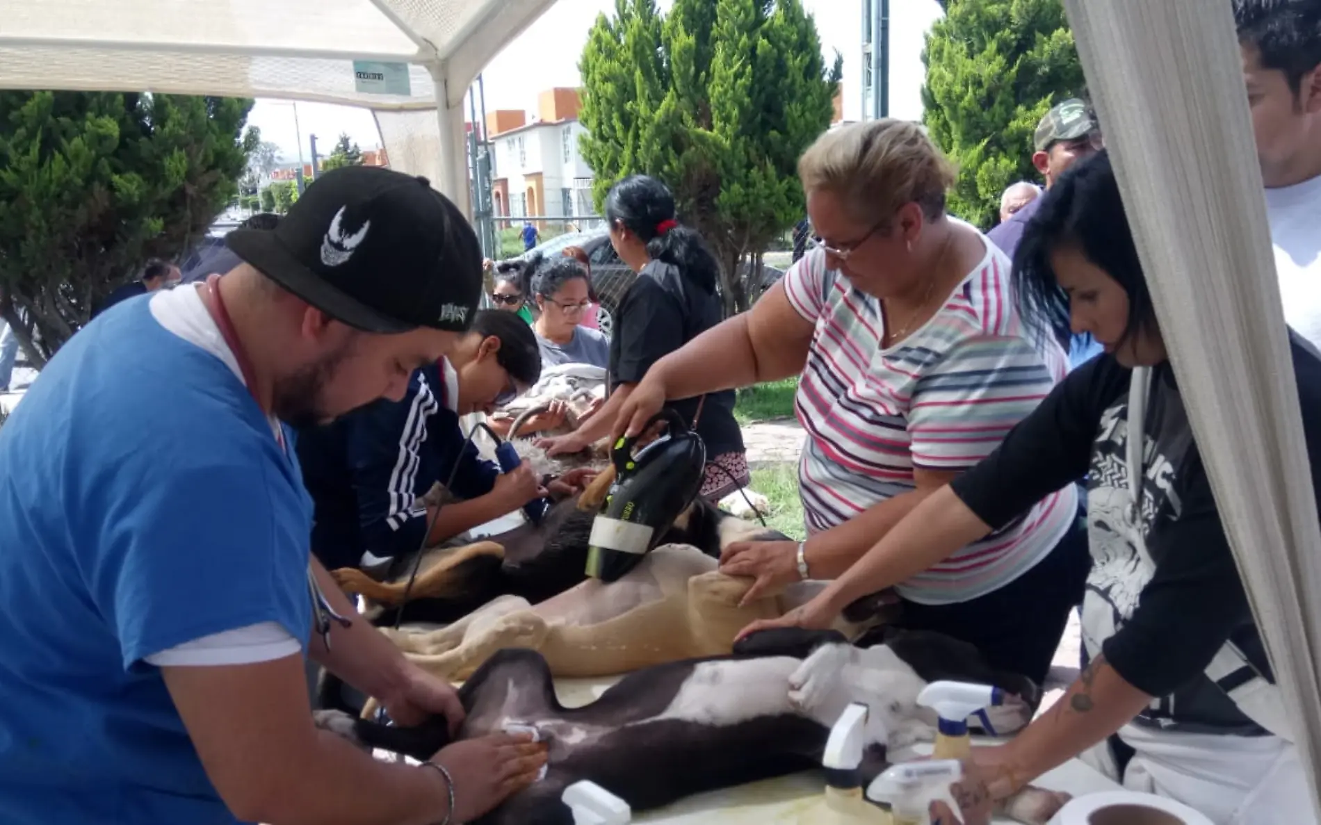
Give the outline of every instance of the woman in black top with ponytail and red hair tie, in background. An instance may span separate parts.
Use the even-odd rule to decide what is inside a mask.
[[[605,201],[610,244],[638,277],[614,315],[610,339],[610,395],[568,436],[538,442],[547,454],[576,453],[608,436],[624,399],[651,364],[720,323],[719,267],[701,236],[675,220],[674,197],[660,181],[633,176],[614,185]],[[734,421],[732,389],[670,401],[707,446],[701,495],[717,500],[748,486],[742,432]]]

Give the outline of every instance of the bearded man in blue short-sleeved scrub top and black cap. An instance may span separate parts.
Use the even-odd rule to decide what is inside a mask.
[[[349,166],[226,240],[243,264],[108,309],[0,428],[0,821],[476,818],[542,746],[410,767],[313,726],[305,656],[400,723],[462,708],[309,558],[291,425],[398,399],[445,355],[477,238],[424,178]]]

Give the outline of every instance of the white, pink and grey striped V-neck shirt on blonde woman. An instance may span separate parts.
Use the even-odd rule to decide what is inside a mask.
[[[808,533],[913,490],[914,467],[978,463],[1063,379],[1063,350],[1022,330],[1009,259],[983,243],[985,256],[945,306],[888,350],[880,301],[827,271],[823,251],[785,275],[789,302],[816,325],[795,399],[807,430],[799,484]],[[947,605],[1012,582],[1063,537],[1077,496],[1069,484],[896,589]]]

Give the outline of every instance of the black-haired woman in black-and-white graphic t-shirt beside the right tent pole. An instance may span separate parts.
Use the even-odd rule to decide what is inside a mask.
[[[1091,663],[1013,742],[979,751],[971,777],[984,796],[1004,799],[1095,746],[1091,755],[1116,780],[1218,824],[1314,824],[1108,156],[1075,165],[1044,195],[1013,280],[1029,323],[1061,342],[1091,333],[1106,354],[1071,372],[996,451],[922,502],[814,602],[744,632],[827,627],[855,598],[1086,474],[1092,565],[1082,634]],[[1321,491],[1321,359],[1292,331],[1291,343]]]

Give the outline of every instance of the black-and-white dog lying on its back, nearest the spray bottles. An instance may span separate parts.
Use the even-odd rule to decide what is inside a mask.
[[[886,759],[934,735],[934,718],[917,696],[939,678],[993,684],[1005,694],[995,709],[1000,733],[1021,730],[1036,686],[1000,678],[968,644],[923,632],[897,632],[885,644],[857,648],[832,631],[773,630],[740,642],[733,656],[691,659],[626,676],[594,702],[564,708],[546,660],[505,649],[460,689],[468,715],[460,738],[527,725],[550,743],[546,777],[510,797],[480,825],[572,825],[560,796],[590,780],[634,812],[686,796],[771,779],[820,766],[830,727],[849,702],[868,708],[871,781]],[[1024,693],[1029,694],[1025,696]],[[365,747],[427,759],[448,743],[444,719],[415,729],[386,727],[321,713],[318,723]],[[1001,813],[1044,825],[1065,795],[1028,787]]]

